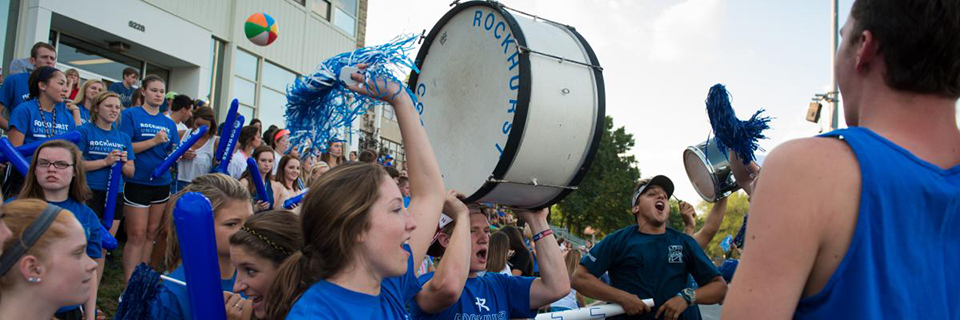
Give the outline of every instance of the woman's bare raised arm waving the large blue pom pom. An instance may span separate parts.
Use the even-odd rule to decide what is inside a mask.
[[[366,65],[358,65],[358,67],[362,69],[366,68]],[[390,103],[397,113],[400,136],[403,138],[403,148],[409,166],[407,173],[410,177],[411,199],[407,211],[417,222],[417,228],[410,238],[410,249],[413,251],[414,265],[419,265],[433,241],[446,194],[437,157],[433,153],[433,148],[430,147],[427,131],[420,125],[420,117],[414,109],[413,101],[401,91],[402,84],[376,79],[375,85],[373,80],[367,80],[362,74],[354,73],[351,76],[359,83],[349,86],[350,90],[380,98]],[[368,85],[362,86],[365,82]],[[380,88],[381,94],[368,91],[368,87],[372,91],[376,91],[374,88]],[[399,94],[394,94],[397,92]]]

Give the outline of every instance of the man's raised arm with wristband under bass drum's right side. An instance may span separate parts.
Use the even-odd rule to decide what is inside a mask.
[[[550,225],[547,224],[549,208],[536,212],[526,210],[514,210],[514,212],[530,225],[534,235],[550,230]],[[563,263],[557,238],[550,234],[537,239],[536,244],[540,277],[534,279],[533,284],[530,285],[531,308],[548,305],[570,293],[570,278],[567,276],[567,267]]]

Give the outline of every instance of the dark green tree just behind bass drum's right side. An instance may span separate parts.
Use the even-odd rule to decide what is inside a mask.
[[[579,189],[556,206],[559,210],[551,214],[551,222],[578,236],[587,226],[605,235],[636,224],[630,200],[640,169],[634,156],[627,155],[633,146],[633,135],[624,127],[613,130],[613,118],[607,116],[590,169]]]

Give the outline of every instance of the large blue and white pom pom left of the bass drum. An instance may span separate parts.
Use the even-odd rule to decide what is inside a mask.
[[[401,84],[404,93],[416,103],[416,97],[397,78],[406,69],[419,72],[408,57],[417,35],[397,37],[389,43],[345,52],[324,61],[311,74],[298,78],[287,90],[287,129],[291,146],[307,144],[325,151],[329,142],[337,139],[340,128],[350,127],[354,119],[365,113],[379,100],[350,91],[339,80],[340,69],[366,63],[367,78],[384,78]],[[369,88],[380,92],[380,88]],[[400,94],[397,92],[395,94]],[[309,139],[309,140],[308,140]]]

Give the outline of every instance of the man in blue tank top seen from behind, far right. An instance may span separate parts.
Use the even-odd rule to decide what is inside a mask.
[[[784,143],[751,203],[731,319],[960,319],[960,2],[857,0],[848,129]]]

